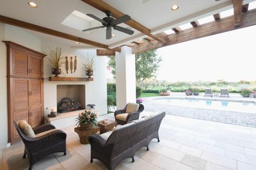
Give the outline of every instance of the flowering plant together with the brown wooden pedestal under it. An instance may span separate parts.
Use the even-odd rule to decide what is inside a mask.
[[[100,128],[97,127],[97,113],[90,110],[81,112],[76,118],[75,132],[79,135],[81,144],[88,144],[88,136],[97,133]]]

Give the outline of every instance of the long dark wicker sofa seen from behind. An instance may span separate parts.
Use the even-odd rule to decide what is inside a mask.
[[[159,142],[158,131],[164,116],[165,112],[161,112],[137,123],[124,125],[110,132],[108,139],[98,134],[90,135],[91,162],[97,158],[110,170],[115,169],[124,158],[132,158],[134,162],[134,155],[141,147],[145,146],[148,150],[148,144],[154,138]]]

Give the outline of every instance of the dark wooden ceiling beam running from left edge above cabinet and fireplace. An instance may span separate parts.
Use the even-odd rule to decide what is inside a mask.
[[[81,42],[81,43],[86,43],[88,45],[93,45],[95,47],[100,47],[103,49],[109,49],[108,45],[102,44],[102,43],[98,43],[98,42],[93,42],[91,40],[87,40],[85,38],[81,38],[78,36],[74,36],[74,35],[68,35],[67,33],[63,33],[60,31],[55,31],[53,29],[49,29],[47,27],[42,27],[42,26],[37,26],[35,24],[30,24],[28,22],[24,22],[22,20],[17,20],[17,19],[12,19],[9,17],[5,17],[3,15],[0,15],[0,22],[3,22],[4,24],[10,24],[12,26],[18,26],[18,27],[22,27],[25,29],[29,29],[32,31],[37,31],[40,33],[44,33],[47,35],[53,35],[53,36],[58,36],[60,38],[65,38],[68,40],[72,40],[74,42]]]

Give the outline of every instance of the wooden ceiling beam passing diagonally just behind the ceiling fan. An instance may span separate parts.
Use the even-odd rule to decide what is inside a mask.
[[[116,10],[115,8],[113,8],[113,6],[110,6],[109,4],[105,3],[102,0],[81,0],[84,3],[90,4],[91,6],[93,6],[94,8],[102,11],[102,12],[106,12],[106,11],[110,11],[112,13],[112,17],[114,17],[115,19],[122,17],[124,15],[124,13]],[[153,38],[154,40],[157,40],[158,42],[161,43],[166,43],[164,40],[157,38],[156,36],[152,35],[150,33],[150,29],[148,29],[147,27],[141,25],[139,22],[136,22],[135,20],[131,19],[128,20],[127,22],[125,22],[125,24],[127,24],[128,26],[133,27],[134,29],[140,31],[141,33],[143,33],[144,35],[150,36],[151,38]]]

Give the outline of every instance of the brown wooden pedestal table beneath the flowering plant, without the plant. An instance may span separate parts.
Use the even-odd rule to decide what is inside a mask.
[[[89,135],[96,134],[97,132],[99,132],[99,130],[100,130],[100,128],[98,126],[94,126],[89,129],[83,129],[80,127],[75,128],[75,132],[77,132],[77,134],[79,135],[81,144],[88,144],[89,143],[89,141],[88,141]]]

